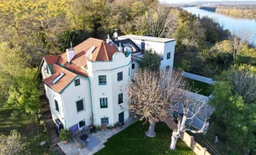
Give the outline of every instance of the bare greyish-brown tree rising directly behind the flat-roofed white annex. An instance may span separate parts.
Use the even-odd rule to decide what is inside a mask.
[[[168,5],[155,5],[144,15],[137,17],[123,29],[133,29],[133,33],[150,34],[155,37],[171,38],[178,27],[178,10]],[[130,31],[129,31],[130,32]]]

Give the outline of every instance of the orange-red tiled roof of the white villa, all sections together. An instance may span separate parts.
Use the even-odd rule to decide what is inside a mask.
[[[86,74],[84,69],[84,67],[87,65],[87,58],[85,58],[85,53],[88,52],[91,47],[95,47],[95,50],[92,51],[92,61],[112,60],[113,54],[119,51],[115,46],[111,46],[103,40],[89,38],[88,40],[85,40],[78,46],[74,47],[75,56],[71,60],[71,64],[67,63],[67,52],[62,53],[60,56],[44,57],[44,60],[46,60],[47,64],[54,65],[54,74],[43,79],[43,82],[50,88],[54,89],[54,91],[59,93],[65,87],[67,87],[67,84],[69,84],[78,74],[84,77],[88,77],[88,74]],[[61,67],[57,64],[61,64],[64,67]],[[50,84],[50,82],[53,81],[54,78],[57,77],[57,75],[61,72],[64,73],[64,76],[61,77],[57,83]]]

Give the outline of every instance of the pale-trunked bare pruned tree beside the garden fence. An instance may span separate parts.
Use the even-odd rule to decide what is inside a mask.
[[[206,133],[206,130],[209,127],[208,119],[206,119],[203,122],[201,129],[195,130],[190,128],[195,116],[198,115],[202,107],[206,105],[206,102],[200,101],[200,98],[197,98],[196,96],[197,94],[190,91],[183,91],[179,101],[171,105],[172,112],[183,112],[183,115],[178,115],[178,128],[174,129],[172,132],[170,145],[171,150],[175,150],[177,140],[181,136],[181,133],[184,133],[188,130],[192,133]]]

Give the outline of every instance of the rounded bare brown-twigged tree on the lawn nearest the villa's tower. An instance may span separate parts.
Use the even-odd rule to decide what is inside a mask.
[[[146,119],[150,126],[146,135],[155,136],[154,126],[168,113],[170,102],[175,102],[180,96],[180,88],[185,86],[180,74],[171,71],[140,70],[134,74],[128,88],[131,98],[130,112],[140,115],[140,120]],[[171,75],[173,74],[173,76]],[[171,95],[170,95],[171,94]]]

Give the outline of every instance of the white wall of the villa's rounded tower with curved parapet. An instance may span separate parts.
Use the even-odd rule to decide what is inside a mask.
[[[129,118],[126,87],[130,82],[130,55],[115,53],[112,61],[88,61],[88,77],[91,81],[92,103],[95,125],[101,124],[102,118],[109,118],[109,124],[119,121],[119,113],[124,113],[124,120]],[[123,72],[123,80],[118,81],[117,74]],[[106,84],[99,84],[99,76],[106,75]],[[123,93],[123,103],[118,103],[118,95]],[[108,107],[100,108],[100,98],[107,98]]]

